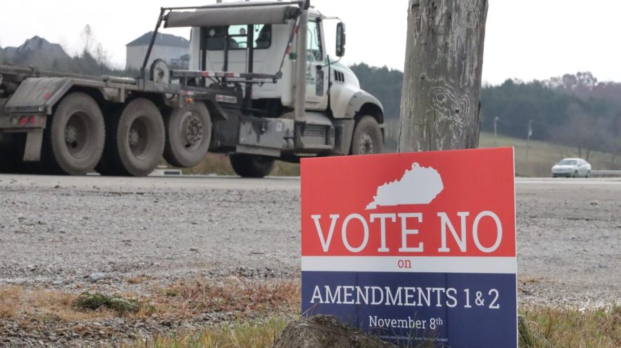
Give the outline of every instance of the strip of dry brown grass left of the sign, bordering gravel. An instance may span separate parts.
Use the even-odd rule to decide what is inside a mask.
[[[152,296],[81,295],[42,289],[0,287],[0,319],[74,322],[126,316],[144,319],[155,315],[186,320],[204,313],[224,313],[243,319],[299,314],[299,281],[191,280],[154,289]]]

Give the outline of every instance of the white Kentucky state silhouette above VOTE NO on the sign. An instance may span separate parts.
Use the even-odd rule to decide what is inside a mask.
[[[413,163],[412,169],[406,170],[402,178],[377,187],[377,194],[366,210],[379,206],[429,204],[442,190],[444,184],[437,170]]]

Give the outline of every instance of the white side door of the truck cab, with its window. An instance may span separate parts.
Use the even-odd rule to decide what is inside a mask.
[[[328,108],[328,72],[324,68],[326,52],[322,25],[317,18],[308,18],[306,32],[306,110]]]

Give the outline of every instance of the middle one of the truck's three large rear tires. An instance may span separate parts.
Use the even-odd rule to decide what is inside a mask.
[[[108,120],[108,138],[97,165],[102,175],[147,176],[164,153],[164,121],[152,101],[130,101],[119,116]]]

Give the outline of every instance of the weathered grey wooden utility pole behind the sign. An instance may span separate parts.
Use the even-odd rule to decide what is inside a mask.
[[[488,0],[409,0],[399,152],[479,143]]]

